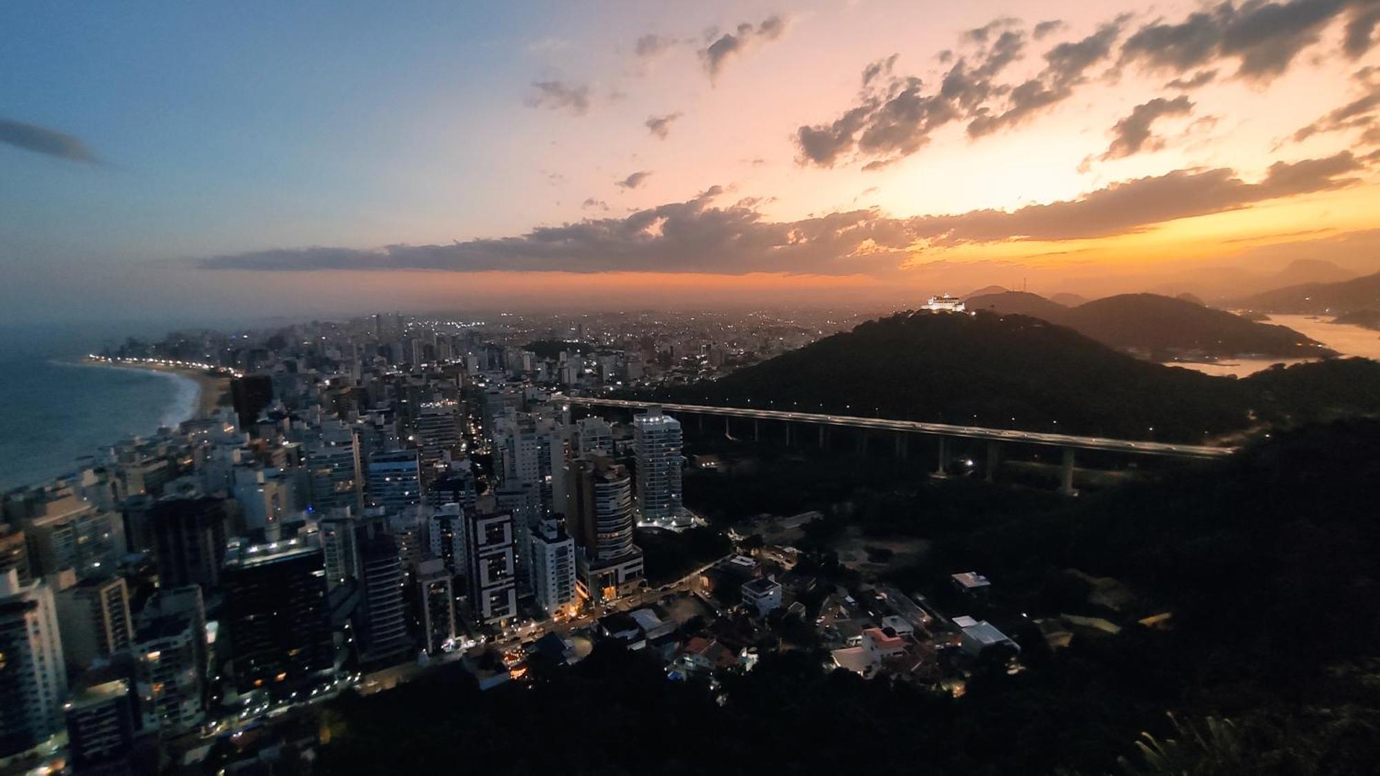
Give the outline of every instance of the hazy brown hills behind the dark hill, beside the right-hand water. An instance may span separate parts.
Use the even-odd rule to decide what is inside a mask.
[[[1330,356],[1336,352],[1285,326],[1256,323],[1190,298],[1119,294],[1064,307],[1038,294],[1005,291],[967,300],[967,308],[999,315],[1029,315],[1068,326],[1112,348],[1155,360],[1203,355],[1230,358]]]

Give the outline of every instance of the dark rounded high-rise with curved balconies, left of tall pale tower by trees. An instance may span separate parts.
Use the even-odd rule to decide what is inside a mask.
[[[633,541],[632,479],[602,453],[570,463],[567,529],[580,545],[577,590],[592,603],[642,585],[643,558]]]

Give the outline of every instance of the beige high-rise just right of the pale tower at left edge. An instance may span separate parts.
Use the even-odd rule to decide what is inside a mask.
[[[72,569],[66,569],[52,579],[58,585],[58,630],[68,667],[79,671],[130,646],[134,619],[124,577],[77,581]]]

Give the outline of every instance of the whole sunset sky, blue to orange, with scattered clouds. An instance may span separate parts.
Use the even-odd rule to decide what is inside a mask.
[[[1380,271],[1380,0],[54,0],[0,30],[0,323]]]

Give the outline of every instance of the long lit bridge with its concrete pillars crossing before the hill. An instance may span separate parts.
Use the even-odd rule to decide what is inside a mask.
[[[925,423],[916,420],[887,420],[876,417],[838,416],[827,413],[798,413],[788,410],[763,410],[748,407],[715,407],[709,405],[678,405],[672,402],[632,402],[627,399],[599,399],[593,396],[564,396],[562,400],[570,405],[586,407],[613,407],[627,410],[647,410],[661,407],[671,413],[696,414],[704,417],[724,418],[726,428],[733,418],[747,418],[753,421],[752,434],[760,439],[759,421],[780,421],[787,424],[787,443],[791,442],[791,425],[809,424],[820,429],[820,446],[825,445],[825,428],[842,427],[861,431],[890,431],[897,432],[896,450],[904,456],[908,435],[925,435],[938,439],[940,458],[937,474],[948,468],[947,439],[981,439],[987,442],[987,479],[994,481],[996,468],[1000,464],[1000,445],[1021,443],[1045,447],[1056,447],[1063,452],[1060,492],[1074,493],[1074,452],[1100,450],[1112,453],[1126,453],[1133,456],[1159,456],[1170,458],[1221,458],[1231,456],[1236,447],[1210,447],[1206,445],[1177,445],[1172,442],[1134,442],[1130,439],[1112,439],[1107,436],[1079,436],[1075,434],[1050,434],[1042,431],[1017,431],[1009,428],[987,428],[981,425],[955,425],[948,423]]]

